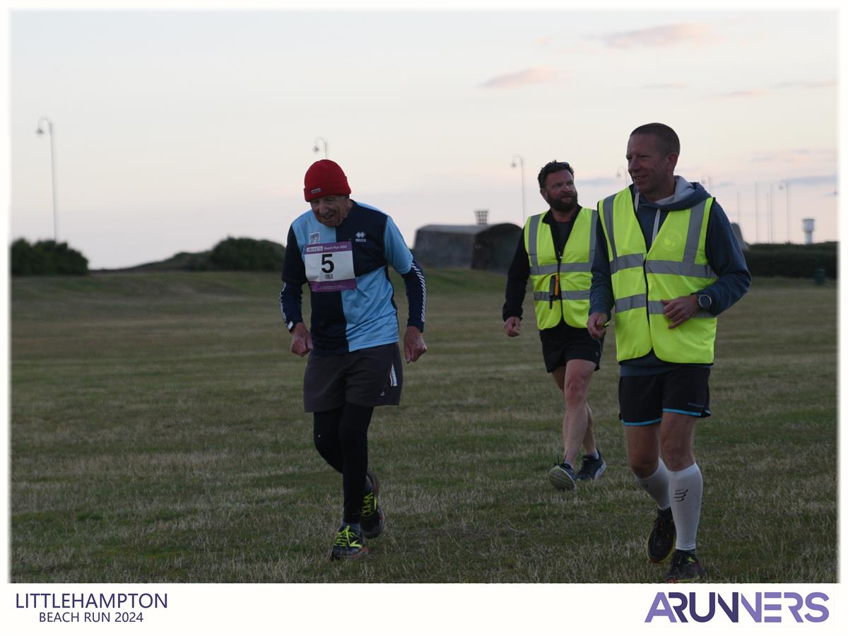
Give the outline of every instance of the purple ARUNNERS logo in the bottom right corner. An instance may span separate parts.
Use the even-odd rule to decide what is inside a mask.
[[[753,598],[750,594],[746,597],[739,592],[734,592],[729,601],[721,594],[710,592],[706,608],[703,599],[707,594],[700,594],[700,602],[696,602],[696,594],[695,592],[689,592],[689,594],[657,592],[644,622],[652,622],[655,618],[666,618],[668,622],[689,622],[689,619],[695,622],[709,622],[716,617],[717,607],[720,613],[730,619],[730,622],[740,622],[740,617],[744,622],[783,622],[784,616],[780,615],[781,611],[789,611],[789,616],[794,622],[825,622],[830,616],[827,606],[817,603],[817,601],[830,600],[823,592],[813,592],[806,597],[795,592],[756,592]],[[777,602],[763,603],[764,599]],[[780,600],[786,600],[786,603],[781,604]],[[705,610],[704,614],[698,613]],[[801,613],[802,611],[804,613]],[[777,612],[777,615],[767,616],[765,612]],[[786,616],[787,622],[789,622],[789,616]]]

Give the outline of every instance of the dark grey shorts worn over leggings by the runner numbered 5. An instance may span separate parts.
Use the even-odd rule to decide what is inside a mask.
[[[398,343],[340,355],[311,352],[304,372],[304,410],[315,413],[338,409],[345,402],[359,406],[400,404],[403,384]]]

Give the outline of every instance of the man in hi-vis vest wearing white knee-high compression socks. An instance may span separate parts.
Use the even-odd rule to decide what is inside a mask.
[[[630,134],[633,185],[598,204],[587,325],[601,338],[615,307],[619,417],[630,469],[657,505],[648,558],[672,557],[667,583],[706,575],[695,545],[703,493],[695,422],[710,416],[717,315],[750,287],[724,210],[700,183],[675,176],[679,153],[665,124]]]

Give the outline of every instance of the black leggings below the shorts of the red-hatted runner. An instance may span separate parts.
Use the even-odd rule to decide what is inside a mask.
[[[326,463],[342,473],[343,523],[359,523],[368,471],[368,425],[373,406],[345,403],[314,413],[312,438]]]

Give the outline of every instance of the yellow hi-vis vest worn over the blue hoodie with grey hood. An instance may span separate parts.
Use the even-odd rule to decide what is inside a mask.
[[[691,209],[669,212],[650,250],[645,248],[629,188],[598,204],[616,299],[619,361],[640,358],[654,349],[656,357],[666,362],[712,362],[716,316],[698,310],[688,321],[669,329],[661,303],[688,296],[716,281],[704,248],[712,201],[707,198]]]

